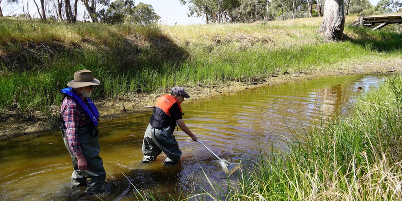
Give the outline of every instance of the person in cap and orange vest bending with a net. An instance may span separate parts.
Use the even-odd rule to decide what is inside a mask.
[[[182,154],[173,131],[176,124],[192,140],[197,141],[194,135],[183,121],[180,104],[184,98],[190,98],[182,87],[173,87],[170,95],[165,94],[158,98],[155,109],[149,119],[142,143],[144,154],[142,163],[152,162],[160,153],[166,154],[165,165],[174,165],[181,162]]]

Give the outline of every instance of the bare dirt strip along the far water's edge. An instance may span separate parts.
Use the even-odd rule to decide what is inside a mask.
[[[399,73],[401,70],[402,59],[382,63],[354,65],[330,71],[312,71],[303,74],[277,75],[254,83],[230,82],[220,86],[184,87],[187,93],[191,95],[191,98],[186,100],[186,103],[189,103],[194,100],[207,98],[208,96],[234,93],[241,90],[249,90],[272,84],[280,84],[292,80],[366,73]],[[152,106],[160,95],[162,95],[162,93],[137,94],[135,96],[115,102],[102,101],[95,104],[97,104],[98,110],[101,114],[101,120],[116,119],[131,113],[153,110]],[[55,108],[54,112],[57,113],[57,108]],[[102,124],[102,122],[100,123]],[[11,116],[0,120],[0,139],[31,135],[39,131],[58,129],[59,126],[60,122],[58,121],[49,122],[47,119],[41,118],[40,112],[38,112],[37,115],[33,115],[30,120],[22,120]]]

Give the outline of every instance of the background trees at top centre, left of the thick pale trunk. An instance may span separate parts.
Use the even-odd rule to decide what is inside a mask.
[[[180,2],[188,5],[188,16],[203,17],[206,23],[252,23],[261,20],[321,16],[324,0],[180,0]]]

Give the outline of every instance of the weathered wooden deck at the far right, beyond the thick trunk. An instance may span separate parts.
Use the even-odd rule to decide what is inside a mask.
[[[353,26],[378,26],[374,27],[372,30],[381,29],[388,24],[401,24],[402,15],[386,15],[386,16],[365,16],[359,17],[358,20],[353,22]]]

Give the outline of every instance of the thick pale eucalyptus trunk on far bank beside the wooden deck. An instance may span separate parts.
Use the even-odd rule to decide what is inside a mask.
[[[345,28],[344,0],[326,0],[323,23],[318,30],[328,40],[342,40]]]

